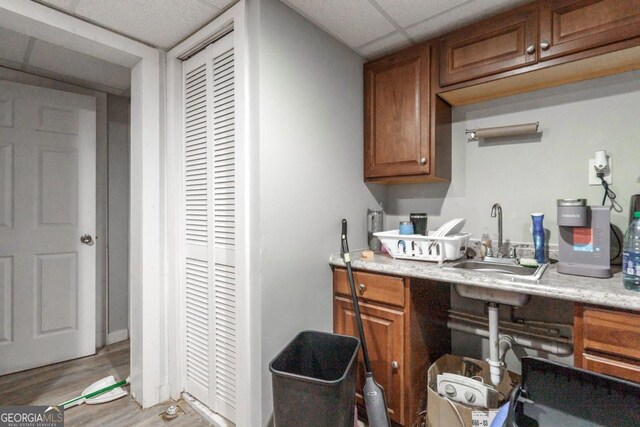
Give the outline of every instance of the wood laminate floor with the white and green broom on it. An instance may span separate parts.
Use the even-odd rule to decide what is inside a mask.
[[[91,383],[113,375],[117,381],[129,375],[129,342],[102,348],[95,356],[56,363],[0,376],[0,406],[55,405],[78,396]],[[126,387],[129,391],[129,387]],[[172,403],[184,413],[171,421],[161,414]],[[167,426],[210,425],[183,401],[165,402],[142,410],[127,395],[101,405],[81,405],[65,411],[65,426]]]

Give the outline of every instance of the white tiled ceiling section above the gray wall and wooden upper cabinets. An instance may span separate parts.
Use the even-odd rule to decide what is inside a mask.
[[[531,0],[281,0],[368,59]]]

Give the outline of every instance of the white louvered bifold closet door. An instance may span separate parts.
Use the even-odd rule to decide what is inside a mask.
[[[185,390],[236,420],[233,34],[184,62]]]

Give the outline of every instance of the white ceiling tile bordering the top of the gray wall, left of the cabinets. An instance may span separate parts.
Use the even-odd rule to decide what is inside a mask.
[[[351,48],[395,31],[366,0],[282,0]]]

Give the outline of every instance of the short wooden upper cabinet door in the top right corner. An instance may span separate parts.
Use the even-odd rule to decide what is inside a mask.
[[[640,0],[541,2],[540,59],[640,36]]]

